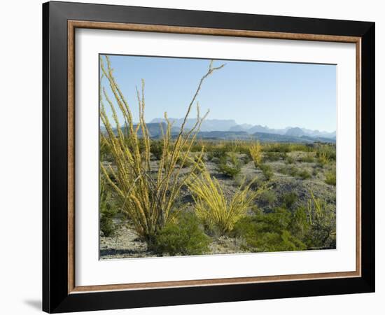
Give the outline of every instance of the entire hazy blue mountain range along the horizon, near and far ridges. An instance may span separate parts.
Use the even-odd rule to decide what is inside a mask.
[[[172,125],[172,137],[179,133],[183,119],[169,118]],[[185,129],[192,128],[197,120],[188,119]],[[162,130],[167,130],[167,124],[162,118],[156,118],[147,123],[148,133],[152,138],[162,136]],[[139,136],[141,130],[139,129]],[[335,142],[335,132],[320,132],[318,130],[308,130],[300,127],[286,127],[284,129],[271,129],[261,125],[237,125],[235,120],[204,120],[197,134],[198,139],[221,139],[221,140],[250,140],[258,139],[262,142],[305,142],[313,143]]]

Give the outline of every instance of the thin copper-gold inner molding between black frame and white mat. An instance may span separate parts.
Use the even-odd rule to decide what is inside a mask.
[[[287,274],[279,276],[251,276],[226,279],[202,279],[186,281],[162,281],[148,283],[105,284],[76,286],[75,283],[75,29],[110,29],[126,31],[152,31],[174,34],[200,34],[215,36],[239,36],[274,38],[302,41],[330,41],[356,44],[356,271],[315,274]],[[68,21],[68,293],[85,293],[107,290],[137,290],[186,286],[214,286],[225,284],[332,279],[361,276],[361,38],[318,34],[279,33],[235,29],[209,29],[200,27],[173,27],[166,25],[140,25],[110,22]]]

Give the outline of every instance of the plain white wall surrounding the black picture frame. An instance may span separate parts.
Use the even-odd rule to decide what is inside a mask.
[[[292,15],[376,22],[377,292],[158,307],[94,314],[384,314],[385,10],[381,1],[115,0],[94,3]],[[3,1],[0,11],[0,313],[41,309],[41,0]],[[382,58],[381,58],[382,56]],[[382,146],[381,146],[382,144]],[[379,196],[379,197],[378,197]]]

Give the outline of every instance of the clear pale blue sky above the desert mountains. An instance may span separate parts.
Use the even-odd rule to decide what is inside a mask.
[[[209,59],[111,55],[114,76],[138,120],[135,86],[146,82],[146,121],[182,118],[207,72]],[[304,127],[336,130],[336,66],[215,60],[225,63],[204,81],[197,97],[207,119],[233,119],[238,124],[270,128]],[[104,80],[106,85],[106,80]],[[106,85],[107,86],[107,85]],[[108,106],[106,106],[108,109]],[[195,111],[190,114],[195,118]]]

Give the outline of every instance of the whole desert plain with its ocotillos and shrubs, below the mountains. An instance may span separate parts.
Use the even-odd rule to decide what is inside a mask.
[[[335,248],[335,144],[200,139],[205,116],[162,136],[139,123],[101,59],[99,223],[102,258]],[[108,91],[107,91],[108,90]],[[112,120],[106,113],[109,106]],[[118,111],[124,123],[118,119]]]

